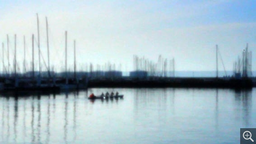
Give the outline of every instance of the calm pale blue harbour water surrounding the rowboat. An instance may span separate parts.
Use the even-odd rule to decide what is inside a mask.
[[[124,94],[94,102],[89,93]],[[0,97],[0,144],[239,144],[256,89],[100,89]]]

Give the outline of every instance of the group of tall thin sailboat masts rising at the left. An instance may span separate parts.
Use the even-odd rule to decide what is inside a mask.
[[[54,79],[55,75],[51,75],[51,69],[50,69],[50,51],[49,51],[49,33],[48,33],[48,20],[47,17],[45,18],[46,20],[46,35],[47,35],[47,64],[45,62],[45,60],[43,59],[43,62],[46,66],[46,70],[47,70],[47,80],[48,82],[50,82],[50,80],[52,81],[52,84],[55,85],[56,81]],[[16,45],[16,34],[14,34],[14,75],[11,72],[10,73],[10,60],[9,60],[9,35],[7,34],[7,60],[8,60],[8,67],[5,67],[5,61],[4,61],[4,42],[2,42],[2,49],[3,49],[3,72],[5,71],[7,74],[5,74],[5,78],[11,78],[11,79],[15,79],[15,87],[18,87],[18,77],[19,74],[17,73],[17,45]],[[37,74],[37,86],[41,86],[41,77],[42,77],[42,66],[41,66],[41,56],[42,56],[42,52],[41,52],[41,47],[40,47],[40,28],[39,28],[39,17],[37,14],[37,47],[38,47],[38,65],[39,65],[39,71]],[[35,80],[36,74],[35,74],[35,56],[34,56],[34,51],[35,51],[35,35],[32,34],[32,76],[29,76],[29,79],[31,80]],[[23,36],[23,44],[24,44],[24,59],[23,59],[23,70],[24,72],[26,72],[26,41],[25,41],[25,36]],[[74,82],[78,83],[77,80],[77,74],[76,74],[76,51],[75,51],[75,46],[76,46],[76,42],[74,40]],[[68,79],[68,72],[67,72],[67,31],[65,31],[65,84],[69,83],[69,79]]]

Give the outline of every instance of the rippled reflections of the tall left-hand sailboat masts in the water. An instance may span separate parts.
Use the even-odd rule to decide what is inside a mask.
[[[0,141],[6,143],[31,142],[33,144],[43,142],[48,144],[51,141],[51,120],[54,120],[51,115],[55,114],[57,105],[56,94],[26,94],[28,93],[2,93],[0,95],[2,99],[1,108],[3,109],[1,112],[2,119],[0,124],[2,135]],[[53,97],[52,100],[51,95]],[[61,95],[58,95],[58,97],[60,96]],[[68,94],[66,94],[66,98],[68,98]],[[29,107],[27,105],[29,105]],[[58,105],[60,105],[60,103]],[[65,105],[65,120],[68,121],[68,100],[66,100]],[[73,110],[74,113],[76,113],[75,99]],[[74,116],[74,123],[75,121],[76,114]],[[74,130],[75,129],[76,126],[74,126]],[[67,131],[66,127],[66,134]]]

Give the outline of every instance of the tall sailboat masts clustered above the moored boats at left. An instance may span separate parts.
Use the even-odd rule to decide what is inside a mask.
[[[32,34],[32,61],[31,61],[31,71],[28,70],[28,68],[26,67],[26,55],[27,55],[27,49],[26,49],[26,41],[25,41],[25,36],[23,36],[23,71],[20,71],[20,67],[18,65],[18,61],[17,61],[17,51],[16,51],[16,47],[17,47],[17,44],[16,44],[16,41],[17,41],[17,37],[16,37],[16,34],[14,34],[14,62],[13,62],[13,69],[10,65],[10,51],[9,51],[9,35],[7,34],[6,35],[6,38],[7,38],[7,64],[8,66],[6,67],[5,66],[5,56],[4,56],[4,51],[5,51],[5,45],[4,45],[4,42],[2,42],[2,53],[3,53],[3,56],[2,56],[2,68],[3,68],[3,76],[5,78],[14,78],[15,81],[18,81],[18,78],[25,78],[25,77],[31,77],[33,80],[37,80],[37,86],[40,87],[41,86],[41,77],[42,76],[42,73],[44,74],[44,72],[47,72],[47,77],[48,77],[48,84],[52,83],[52,79],[53,79],[53,76],[55,75],[52,75],[51,74],[51,68],[50,68],[50,46],[49,46],[49,36],[48,36],[48,20],[47,20],[47,17],[45,18],[46,20],[46,34],[47,34],[47,61],[44,60],[44,58],[42,57],[42,50],[41,50],[41,43],[40,43],[40,28],[39,28],[39,17],[38,17],[38,14],[36,14],[37,16],[37,40],[34,36],[34,34]],[[35,56],[34,56],[34,51],[35,51],[35,42],[36,42],[36,45],[38,47],[38,71],[36,72],[36,66],[35,65]],[[42,61],[41,61],[41,57],[42,57],[42,60],[43,60],[43,64],[46,68],[47,71],[43,71],[42,72]],[[76,61],[75,61],[75,40],[74,40],[74,79],[76,79]],[[53,70],[53,69],[52,69]],[[23,74],[21,74],[23,73]],[[54,74],[54,73],[53,73]],[[21,77],[22,76],[22,77]],[[36,77],[37,76],[37,77]],[[65,31],[65,81],[66,81],[66,84],[68,84],[68,78],[67,78],[67,31]],[[51,82],[50,82],[51,81]],[[77,81],[77,80],[76,80]],[[54,82],[53,82],[54,83]],[[16,85],[16,82],[15,82],[15,85]]]

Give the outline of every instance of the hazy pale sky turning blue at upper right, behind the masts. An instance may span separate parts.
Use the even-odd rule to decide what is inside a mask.
[[[5,43],[6,63],[6,34],[12,55],[17,34],[22,70],[23,35],[26,61],[30,63],[38,13],[43,57],[47,60],[47,16],[50,63],[55,69],[65,64],[67,30],[68,65],[73,65],[75,39],[78,70],[85,63],[103,65],[108,61],[121,63],[122,70],[132,70],[133,55],[157,61],[160,54],[174,57],[176,70],[215,70],[216,44],[226,70],[232,70],[233,61],[241,56],[246,43],[256,63],[255,9],[255,0],[0,0],[0,40]],[[13,61],[12,56],[10,59]]]

